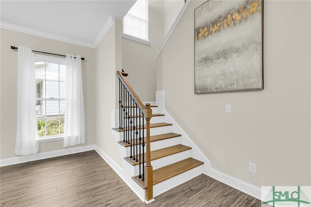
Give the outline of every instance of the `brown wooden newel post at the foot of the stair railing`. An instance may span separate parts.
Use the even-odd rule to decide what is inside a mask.
[[[151,166],[150,158],[150,119],[152,117],[152,109],[150,109],[150,104],[146,104],[144,109],[144,114],[146,114],[146,165],[145,165],[145,183],[147,185],[145,199],[147,201],[153,199],[153,169]]]

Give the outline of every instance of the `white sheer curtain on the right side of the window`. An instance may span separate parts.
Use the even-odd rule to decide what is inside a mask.
[[[64,147],[85,143],[81,57],[66,57]]]

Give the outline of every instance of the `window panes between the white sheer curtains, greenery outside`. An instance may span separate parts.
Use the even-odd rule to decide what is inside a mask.
[[[38,138],[59,137],[64,133],[66,65],[36,60],[35,91]]]

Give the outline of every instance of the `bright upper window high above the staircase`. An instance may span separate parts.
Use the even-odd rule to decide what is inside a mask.
[[[148,41],[148,0],[137,0],[124,16],[123,33]]]

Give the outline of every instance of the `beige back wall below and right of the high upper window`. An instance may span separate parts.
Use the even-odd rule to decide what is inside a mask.
[[[151,45],[122,38],[122,66],[142,101],[155,101],[155,53],[163,41],[163,1],[149,0],[149,41]]]

